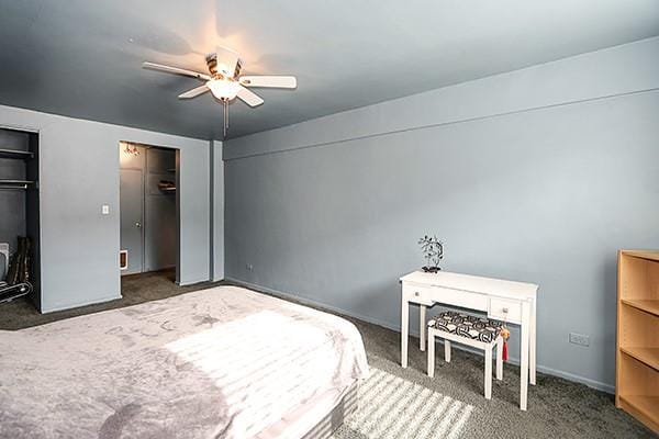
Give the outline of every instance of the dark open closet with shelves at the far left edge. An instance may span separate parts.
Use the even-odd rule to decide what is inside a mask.
[[[0,127],[0,306],[41,311],[38,133]]]

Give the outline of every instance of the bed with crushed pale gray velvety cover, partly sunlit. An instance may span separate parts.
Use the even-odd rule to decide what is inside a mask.
[[[327,437],[368,375],[349,322],[237,286],[0,331],[0,438]]]

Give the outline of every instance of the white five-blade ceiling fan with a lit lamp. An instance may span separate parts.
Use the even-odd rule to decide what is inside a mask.
[[[247,89],[247,87],[278,89],[294,89],[298,87],[294,76],[239,76],[243,66],[238,54],[226,47],[217,47],[214,54],[206,56],[205,61],[209,67],[209,74],[148,61],[143,63],[142,67],[168,74],[189,76],[205,81],[203,86],[179,94],[179,99],[197,98],[210,91],[224,105],[224,136],[226,136],[226,131],[228,130],[230,101],[238,98],[249,106],[258,106],[264,103],[264,100]]]

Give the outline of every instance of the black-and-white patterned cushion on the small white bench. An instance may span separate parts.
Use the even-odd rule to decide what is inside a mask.
[[[471,338],[482,342],[492,342],[501,333],[503,324],[487,317],[477,317],[469,314],[446,311],[428,320],[428,327],[434,327],[446,333]]]

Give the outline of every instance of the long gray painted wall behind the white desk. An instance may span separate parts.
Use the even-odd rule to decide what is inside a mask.
[[[657,54],[647,40],[226,142],[226,278],[399,328],[398,278],[437,234],[446,270],[540,285],[540,370],[612,391],[616,250],[659,247]]]

